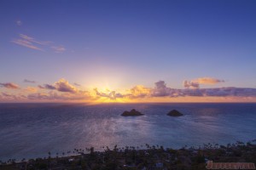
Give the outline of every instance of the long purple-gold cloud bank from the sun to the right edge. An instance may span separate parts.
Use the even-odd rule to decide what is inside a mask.
[[[98,97],[108,99],[143,99],[143,98],[184,98],[184,97],[253,97],[256,98],[256,88],[200,88],[198,83],[183,82],[183,89],[169,88],[166,82],[159,81],[154,83],[154,88],[146,88],[142,85],[137,85],[134,88],[126,90],[126,93],[121,94],[116,91],[106,90],[100,92],[94,88]]]

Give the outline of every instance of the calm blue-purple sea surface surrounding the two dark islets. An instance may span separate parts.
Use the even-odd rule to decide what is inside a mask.
[[[124,117],[131,109],[145,116]],[[176,109],[185,116],[166,116]],[[0,160],[74,148],[159,144],[180,148],[256,139],[256,104],[0,104]]]

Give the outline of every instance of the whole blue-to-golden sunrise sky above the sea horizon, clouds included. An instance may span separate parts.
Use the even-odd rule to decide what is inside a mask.
[[[0,102],[256,102],[255,8],[1,0]]]

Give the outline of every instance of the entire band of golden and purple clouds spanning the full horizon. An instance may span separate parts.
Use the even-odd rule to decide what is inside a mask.
[[[158,99],[168,99],[172,101],[173,98],[186,99],[186,97],[197,97],[197,99],[204,99],[204,97],[211,97],[211,99],[218,99],[217,97],[231,97],[230,99],[256,99],[256,88],[200,88],[199,83],[183,82],[185,88],[169,88],[164,81],[154,83],[154,88],[147,88],[143,85],[137,85],[133,88],[119,93],[115,90],[106,89],[103,92],[94,88],[91,91],[82,91],[71,85],[67,80],[60,79],[53,84],[38,85],[37,87],[27,87],[22,91],[24,94],[9,94],[3,92],[1,100],[4,99],[44,99],[44,100],[79,100],[88,99],[88,101],[97,101],[98,99],[111,99],[113,101],[132,101],[133,99],[149,99],[151,101],[158,101]],[[18,85],[12,82],[0,83],[1,87],[17,89]],[[191,88],[192,87],[192,88]],[[38,91],[39,89],[44,91]],[[49,90],[49,91],[46,91]],[[29,93],[27,96],[25,94]],[[127,100],[128,99],[128,100]],[[189,98],[188,98],[189,99]],[[207,98],[206,98],[207,99]],[[209,98],[208,98],[209,99]],[[149,101],[148,100],[148,101]],[[147,101],[147,100],[145,100]]]

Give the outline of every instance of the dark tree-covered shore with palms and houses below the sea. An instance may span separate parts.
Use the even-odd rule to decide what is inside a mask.
[[[159,145],[145,144],[146,149],[133,146],[104,151],[93,147],[78,155],[36,158],[26,161],[0,163],[0,169],[206,169],[207,161],[244,162],[256,164],[256,139],[236,144],[204,144],[203,147],[183,147],[174,150]]]

